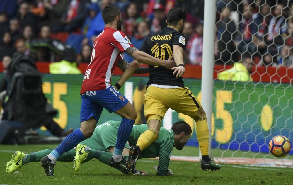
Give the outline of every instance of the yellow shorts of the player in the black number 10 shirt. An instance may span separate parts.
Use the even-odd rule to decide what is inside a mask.
[[[185,88],[163,89],[149,86],[144,95],[144,116],[155,114],[164,118],[168,108],[193,117],[201,107],[198,99]]]

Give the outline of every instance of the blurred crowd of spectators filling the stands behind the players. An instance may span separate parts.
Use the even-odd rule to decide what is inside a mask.
[[[21,52],[37,61],[60,61],[62,44],[52,42],[57,39],[77,53],[70,62],[90,62],[93,41],[105,26],[101,10],[109,4],[120,8],[122,31],[137,48],[166,27],[169,9],[185,9],[185,63],[201,65],[204,0],[1,0],[0,60]],[[233,65],[249,55],[255,65],[292,67],[292,12],[292,0],[217,0],[215,64]],[[35,40],[38,47],[31,44]]]

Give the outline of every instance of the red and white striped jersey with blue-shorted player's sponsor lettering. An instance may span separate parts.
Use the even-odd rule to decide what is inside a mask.
[[[80,93],[110,87],[111,76],[122,57],[120,54],[129,47],[134,46],[122,31],[105,27],[93,44],[91,63],[84,74]]]

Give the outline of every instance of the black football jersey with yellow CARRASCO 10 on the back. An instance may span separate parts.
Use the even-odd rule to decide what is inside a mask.
[[[166,27],[161,31],[149,35],[142,43],[141,51],[161,60],[168,60],[173,55],[173,45],[185,47],[185,35],[173,28]],[[173,70],[165,67],[149,65],[149,82],[147,86],[172,85],[184,88],[182,77],[176,78]]]

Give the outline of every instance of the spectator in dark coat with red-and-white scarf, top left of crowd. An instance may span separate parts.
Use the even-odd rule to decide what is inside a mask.
[[[71,0],[59,24],[52,26],[52,31],[72,32],[79,28],[87,16],[86,6],[88,3],[88,0]]]

